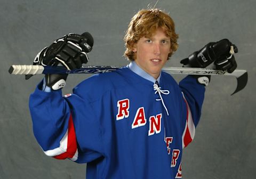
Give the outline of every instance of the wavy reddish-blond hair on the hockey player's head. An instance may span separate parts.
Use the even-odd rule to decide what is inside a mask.
[[[130,61],[135,60],[132,51],[141,37],[150,37],[158,29],[162,28],[167,37],[170,37],[171,47],[168,59],[178,48],[178,34],[175,33],[175,25],[169,14],[159,9],[142,9],[133,16],[124,36],[126,50],[124,55]]]

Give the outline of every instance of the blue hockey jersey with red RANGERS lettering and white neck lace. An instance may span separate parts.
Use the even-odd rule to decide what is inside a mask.
[[[47,156],[87,163],[86,178],[181,178],[181,156],[195,135],[205,88],[187,76],[159,85],[127,67],[94,75],[73,94],[30,95],[38,143]]]

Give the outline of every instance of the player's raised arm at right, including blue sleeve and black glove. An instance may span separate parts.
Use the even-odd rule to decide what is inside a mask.
[[[237,47],[222,39],[217,43],[209,43],[201,50],[189,55],[188,58],[181,60],[183,67],[206,68],[214,62],[216,69],[233,72],[237,65],[234,57]],[[210,82],[211,76],[189,75],[181,80],[179,86],[182,91],[182,145],[185,148],[195,136],[195,128],[201,117],[201,110],[204,101],[205,87]]]

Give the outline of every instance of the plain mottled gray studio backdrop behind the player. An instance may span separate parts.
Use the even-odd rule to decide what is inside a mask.
[[[89,31],[94,37],[92,65],[126,65],[123,36],[131,17],[156,1],[0,1],[1,117],[0,178],[85,178],[86,165],[46,157],[32,131],[29,94],[43,78],[9,75],[12,64],[31,64],[54,39]],[[255,7],[256,1],[160,0],[179,34],[179,49],[167,66],[208,42],[228,38],[238,46],[238,68],[247,69],[246,88],[234,77],[212,77],[196,137],[182,159],[183,178],[253,178],[256,174]],[[63,93],[90,75],[70,75]],[[179,81],[181,76],[174,76]]]

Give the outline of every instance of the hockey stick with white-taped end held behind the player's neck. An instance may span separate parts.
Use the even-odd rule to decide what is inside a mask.
[[[9,73],[13,75],[36,75],[36,74],[101,74],[104,72],[115,71],[122,67],[117,66],[82,66],[80,69],[67,70],[65,67],[51,67],[38,65],[12,65]],[[182,68],[182,67],[164,67],[163,71],[169,74],[178,75],[225,75],[235,76],[237,87],[234,93],[243,90],[247,84],[248,74],[246,70],[235,70],[232,73],[227,71],[207,69],[207,68]]]

